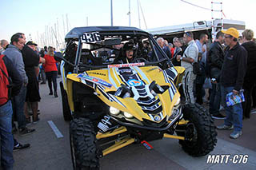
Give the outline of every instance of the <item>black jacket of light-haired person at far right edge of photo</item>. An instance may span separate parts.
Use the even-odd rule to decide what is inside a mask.
[[[245,42],[242,44],[245,47],[248,57],[247,57],[247,70],[246,77],[256,77],[256,43],[255,42]]]

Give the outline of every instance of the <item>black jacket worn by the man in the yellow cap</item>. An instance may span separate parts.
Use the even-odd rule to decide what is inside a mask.
[[[243,79],[246,75],[247,51],[238,43],[232,49],[225,50],[224,63],[221,72],[221,85],[234,86],[235,90],[242,89]]]

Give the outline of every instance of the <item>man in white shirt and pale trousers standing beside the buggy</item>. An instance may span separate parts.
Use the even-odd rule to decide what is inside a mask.
[[[178,55],[177,60],[181,61],[182,67],[186,69],[185,75],[182,78],[182,85],[186,97],[186,104],[194,104],[193,86],[196,75],[193,73],[193,65],[198,61],[198,46],[194,42],[194,35],[191,32],[186,32],[183,35],[184,41],[188,45],[183,56]]]

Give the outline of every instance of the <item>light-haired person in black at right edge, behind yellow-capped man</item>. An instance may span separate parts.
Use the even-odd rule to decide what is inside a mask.
[[[256,43],[253,42],[253,38],[253,30],[245,30],[242,32],[242,46],[245,47],[248,53],[246,76],[243,82],[246,102],[242,105],[243,116],[246,118],[250,118],[252,91],[256,84]]]

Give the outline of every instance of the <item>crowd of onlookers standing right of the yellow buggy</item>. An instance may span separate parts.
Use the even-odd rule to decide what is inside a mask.
[[[238,38],[240,41],[238,42]],[[161,46],[162,38],[158,38]],[[254,32],[245,30],[239,37],[238,30],[230,28],[219,31],[213,43],[207,46],[208,35],[201,34],[194,40],[192,32],[186,32],[182,39],[173,38],[174,47],[170,47],[171,60],[175,66],[186,68],[182,79],[183,93],[187,103],[209,104],[210,116],[224,119],[218,129],[231,130],[230,138],[242,135],[242,120],[255,113],[256,104],[256,43]],[[164,48],[164,47],[162,47]],[[164,49],[166,52],[167,49]],[[169,56],[168,53],[166,53]],[[195,72],[198,63],[199,70]],[[206,88],[205,88],[206,86]],[[206,89],[208,97],[206,98]],[[237,95],[244,102],[226,105],[226,96]],[[210,99],[208,101],[208,98]],[[242,101],[242,100],[241,100]],[[225,112],[220,110],[224,108]],[[222,114],[225,113],[225,114]]]

